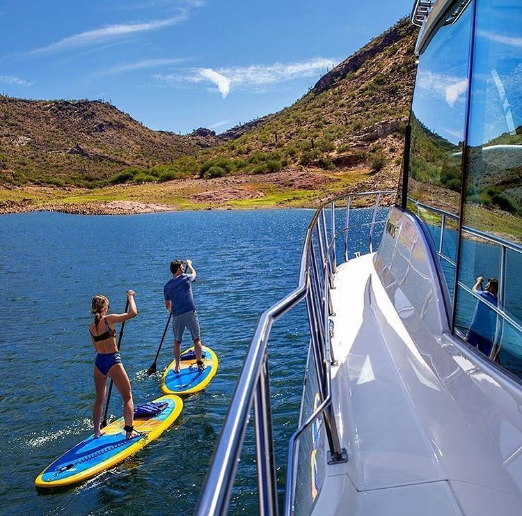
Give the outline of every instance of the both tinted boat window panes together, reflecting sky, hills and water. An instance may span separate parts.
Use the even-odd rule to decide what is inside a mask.
[[[420,56],[406,208],[441,258],[454,334],[522,378],[522,7],[480,0],[471,34],[473,17],[475,1]]]

